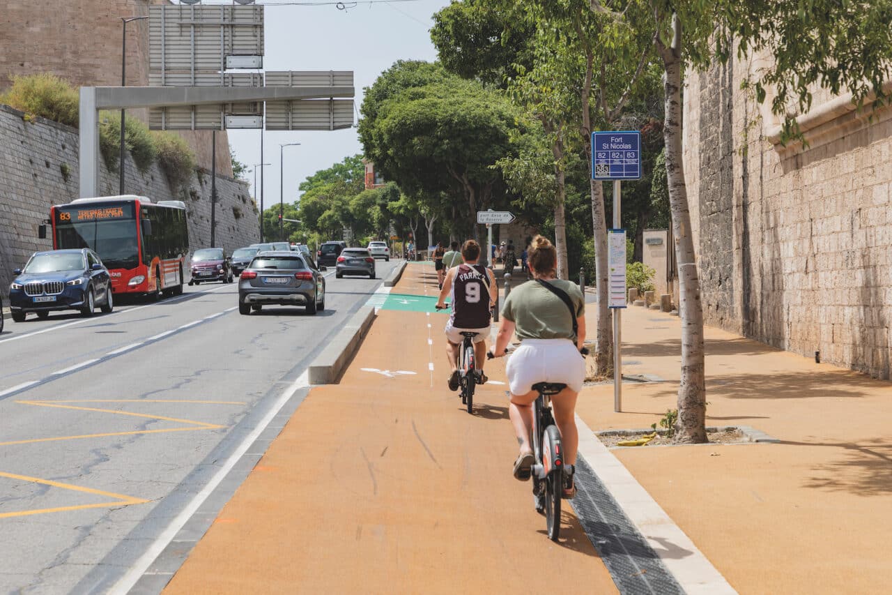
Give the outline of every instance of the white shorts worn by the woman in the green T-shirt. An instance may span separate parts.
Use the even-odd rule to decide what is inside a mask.
[[[505,366],[512,395],[525,395],[537,382],[560,382],[579,392],[585,360],[570,339],[524,339]]]

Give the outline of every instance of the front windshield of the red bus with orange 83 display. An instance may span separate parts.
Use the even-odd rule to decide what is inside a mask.
[[[133,205],[59,208],[55,233],[57,248],[88,247],[109,269],[134,269],[139,263]]]

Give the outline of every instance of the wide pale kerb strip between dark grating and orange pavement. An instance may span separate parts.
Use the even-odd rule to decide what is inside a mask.
[[[722,574],[706,559],[657,501],[607,449],[579,415],[579,453],[595,469],[616,503],[654,549],[665,567],[691,595],[736,595]],[[680,551],[687,552],[678,557]]]

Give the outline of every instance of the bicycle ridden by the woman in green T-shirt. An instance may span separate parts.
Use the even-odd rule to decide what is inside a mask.
[[[580,351],[589,353],[587,348]],[[491,351],[488,359],[495,357]],[[539,397],[533,402],[533,506],[545,513],[549,540],[558,541],[560,534],[560,501],[564,495],[564,443],[558,424],[551,415],[551,397],[566,389],[561,382],[536,382],[533,390]]]

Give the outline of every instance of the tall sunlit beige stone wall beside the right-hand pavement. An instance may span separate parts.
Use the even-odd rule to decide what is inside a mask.
[[[892,110],[815,105],[810,147],[782,147],[780,122],[740,90],[761,63],[693,73],[685,90],[706,323],[888,379]]]

